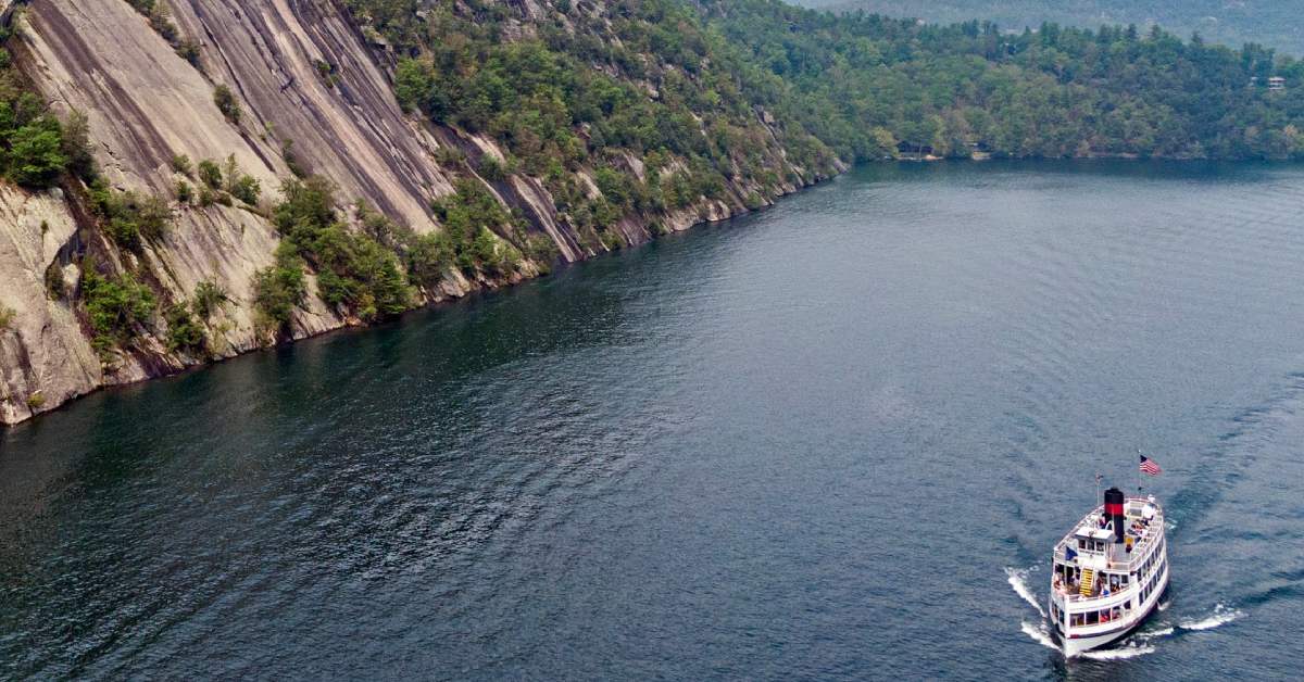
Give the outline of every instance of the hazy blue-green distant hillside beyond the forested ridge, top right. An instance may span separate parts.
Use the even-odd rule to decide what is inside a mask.
[[[990,20],[1004,29],[1043,21],[1097,27],[1102,23],[1158,23],[1189,38],[1240,47],[1261,43],[1304,53],[1304,0],[797,0],[818,9],[863,9],[935,22]]]

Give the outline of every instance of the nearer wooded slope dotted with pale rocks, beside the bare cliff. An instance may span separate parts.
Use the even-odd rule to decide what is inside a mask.
[[[404,107],[493,137],[509,158],[479,159],[482,177],[541,179],[562,219],[609,246],[604,231],[631,213],[738,188],[759,205],[837,171],[801,125],[764,123],[730,64],[741,53],[691,5],[558,0],[533,17],[482,0],[348,5],[400,53]]]

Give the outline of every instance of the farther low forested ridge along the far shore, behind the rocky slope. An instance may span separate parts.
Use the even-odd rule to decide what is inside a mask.
[[[1304,64],[1257,46],[1052,23],[1008,35],[991,23],[835,16],[773,0],[705,7],[730,44],[782,80],[771,106],[844,155],[879,154],[884,132],[939,154],[966,154],[962,143],[1012,156],[1304,150]],[[1266,89],[1274,74],[1284,91]]]

